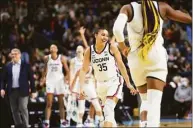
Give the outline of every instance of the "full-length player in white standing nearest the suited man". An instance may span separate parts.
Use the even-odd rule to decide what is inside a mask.
[[[57,54],[58,48],[56,45],[50,46],[50,55],[45,56],[45,72],[43,73],[43,79],[46,79],[46,109],[45,109],[45,121],[43,127],[48,128],[50,125],[49,119],[51,115],[51,107],[54,93],[58,97],[59,110],[60,110],[60,127],[66,126],[65,113],[64,113],[64,91],[65,82],[69,81],[69,68],[67,60],[64,56]],[[66,71],[66,76],[63,73],[63,67]]]

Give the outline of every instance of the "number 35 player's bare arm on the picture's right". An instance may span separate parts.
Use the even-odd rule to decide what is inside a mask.
[[[123,76],[123,78],[124,78],[124,80],[125,80],[125,82],[127,84],[127,87],[130,89],[130,92],[132,94],[136,94],[136,90],[133,88],[133,86],[130,83],[126,67],[125,67],[125,65],[123,63],[123,60],[122,60],[122,57],[121,57],[121,54],[120,54],[118,48],[114,44],[112,44],[111,47],[110,47],[110,51],[114,55],[114,57],[116,59],[117,66],[118,66],[118,68],[119,68],[119,70],[121,72],[121,75]]]

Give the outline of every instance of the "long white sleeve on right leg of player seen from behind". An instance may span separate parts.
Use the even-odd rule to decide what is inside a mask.
[[[147,127],[159,127],[160,125],[160,108],[162,91],[155,89],[147,90],[147,101],[149,104],[147,113]]]

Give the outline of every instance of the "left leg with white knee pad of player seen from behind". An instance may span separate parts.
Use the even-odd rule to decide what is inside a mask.
[[[140,127],[146,127],[147,125],[147,113],[148,113],[148,102],[147,102],[147,84],[138,86],[139,95],[141,98],[140,106]]]

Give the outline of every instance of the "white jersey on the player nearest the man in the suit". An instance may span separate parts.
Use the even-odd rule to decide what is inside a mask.
[[[46,82],[54,83],[58,80],[64,80],[62,67],[63,65],[61,62],[61,55],[58,55],[58,58],[56,60],[53,60],[51,58],[51,55],[49,55],[47,63]]]

